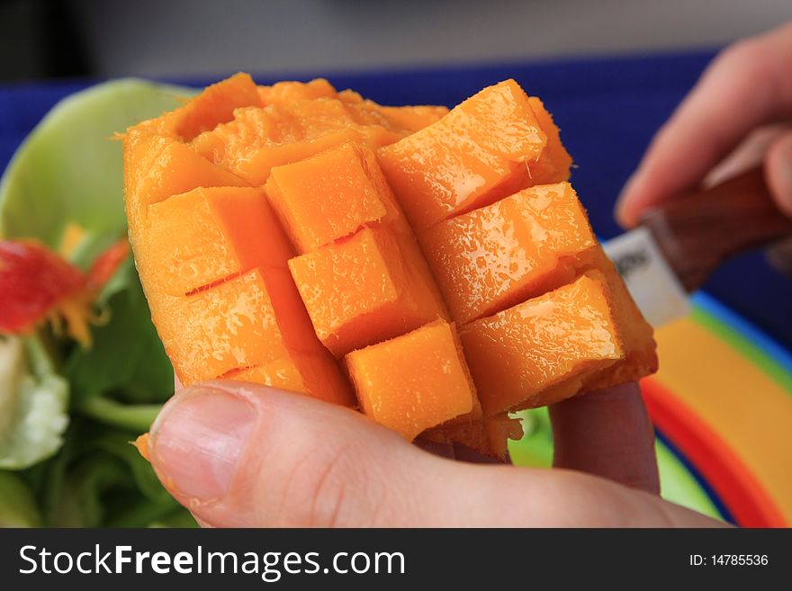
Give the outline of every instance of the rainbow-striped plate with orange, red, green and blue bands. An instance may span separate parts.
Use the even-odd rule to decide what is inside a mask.
[[[663,497],[746,527],[792,524],[792,355],[711,296],[656,332],[661,369],[643,381]],[[548,465],[546,411],[527,415],[512,460]]]

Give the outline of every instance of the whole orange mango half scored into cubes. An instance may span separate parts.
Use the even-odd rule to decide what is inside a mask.
[[[184,384],[357,398],[408,439],[503,457],[507,411],[656,369],[558,129],[513,80],[448,112],[237,75],[123,140],[130,243]]]

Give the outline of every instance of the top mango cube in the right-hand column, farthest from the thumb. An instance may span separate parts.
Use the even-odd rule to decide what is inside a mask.
[[[501,196],[545,148],[528,97],[513,80],[490,86],[441,120],[380,150],[393,191],[419,231]]]

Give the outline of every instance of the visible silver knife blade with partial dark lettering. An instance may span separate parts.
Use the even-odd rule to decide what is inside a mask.
[[[603,247],[653,327],[689,313],[688,293],[647,228],[612,238]]]

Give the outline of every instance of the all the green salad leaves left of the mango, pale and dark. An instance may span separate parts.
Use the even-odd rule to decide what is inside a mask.
[[[0,181],[0,237],[58,251],[77,227],[70,259],[87,268],[126,233],[113,135],[193,92],[126,79],[58,103]],[[96,303],[109,318],[88,348],[46,327],[0,336],[0,525],[193,525],[129,443],[173,393],[131,257]]]

